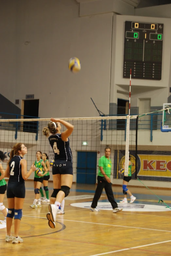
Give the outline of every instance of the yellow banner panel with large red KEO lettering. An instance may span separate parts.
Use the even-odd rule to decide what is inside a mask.
[[[140,155],[139,176],[171,177],[171,156]]]

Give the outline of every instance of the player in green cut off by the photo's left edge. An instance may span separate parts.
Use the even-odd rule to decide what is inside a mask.
[[[5,158],[6,158],[6,155],[2,151],[0,151],[0,160],[4,161]],[[5,171],[3,169],[2,164],[0,163],[0,210],[2,211],[5,217],[4,221],[0,222],[0,224],[6,224],[6,218],[8,213],[8,209],[3,204],[5,191],[7,190],[7,183],[4,180],[4,177],[5,177]]]

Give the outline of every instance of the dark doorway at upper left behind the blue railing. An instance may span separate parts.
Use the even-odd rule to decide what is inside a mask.
[[[24,101],[24,119],[39,116],[39,100]],[[23,122],[23,131],[37,132],[38,122]]]

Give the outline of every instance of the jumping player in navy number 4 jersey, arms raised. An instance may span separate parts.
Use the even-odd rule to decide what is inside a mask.
[[[73,157],[68,137],[74,126],[60,119],[51,118],[50,120],[48,126],[43,128],[43,134],[49,137],[50,146],[55,154],[52,167],[54,191],[50,198],[49,213],[47,213],[48,225],[55,228],[56,214],[60,211],[59,207],[64,197],[69,195],[73,182]],[[60,124],[66,127],[62,133],[60,133]]]

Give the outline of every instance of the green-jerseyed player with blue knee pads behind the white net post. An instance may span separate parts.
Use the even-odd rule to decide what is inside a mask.
[[[130,192],[130,190],[128,190],[128,188],[127,188],[128,182],[132,179],[131,167],[132,167],[132,163],[130,161],[130,156],[129,156],[128,176],[124,175],[124,178],[123,178],[123,186],[122,186],[122,188],[123,188],[124,199],[122,201],[120,201],[120,203],[122,203],[122,204],[128,204],[127,193],[130,196],[130,203],[133,203],[135,201],[135,199],[136,199],[136,197],[133,196],[132,193]],[[125,163],[123,165],[123,169],[119,170],[118,172],[120,174],[124,174],[124,171],[125,171]]]

